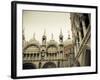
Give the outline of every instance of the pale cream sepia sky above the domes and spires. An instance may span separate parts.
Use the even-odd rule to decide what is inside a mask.
[[[35,33],[36,40],[41,43],[45,30],[47,41],[53,34],[53,39],[59,42],[61,29],[64,40],[67,40],[68,33],[72,36],[69,13],[23,10],[23,30],[26,41],[32,39]]]

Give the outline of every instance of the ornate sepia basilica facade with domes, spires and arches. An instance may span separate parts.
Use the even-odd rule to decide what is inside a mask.
[[[25,40],[23,34],[23,69],[71,67],[74,60],[72,39],[68,35],[68,39],[63,41],[62,31],[58,38],[59,43],[53,39],[52,34],[51,40],[47,41],[44,32],[40,44],[35,34],[29,41]]]

